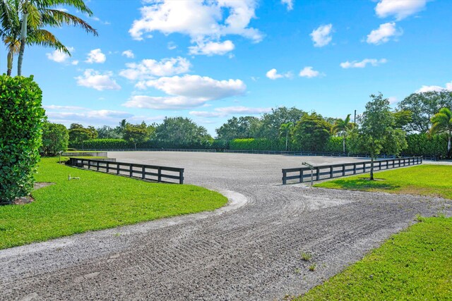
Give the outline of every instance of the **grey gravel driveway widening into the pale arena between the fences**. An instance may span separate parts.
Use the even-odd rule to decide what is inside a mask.
[[[190,152],[109,156],[183,167],[186,183],[222,192],[230,203],[214,212],[1,250],[0,300],[281,300],[362,259],[415,223],[416,214],[452,214],[446,199],[281,184],[281,168],[302,161],[359,159]],[[304,262],[301,252],[312,259]],[[313,263],[316,269],[309,271]]]

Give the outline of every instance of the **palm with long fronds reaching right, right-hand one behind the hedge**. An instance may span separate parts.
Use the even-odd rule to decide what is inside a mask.
[[[73,16],[70,13],[66,13],[65,11],[55,9],[55,7],[60,5],[73,6],[81,13],[85,13],[88,16],[92,16],[93,12],[90,10],[90,8],[88,8],[88,6],[85,5],[83,0],[0,0],[0,1],[8,1],[8,3],[10,3],[11,6],[15,7],[16,14],[19,20],[20,20],[19,14],[20,16],[22,16],[22,19],[20,20],[18,75],[22,75],[22,62],[23,54],[25,51],[25,44],[29,44],[28,35],[32,36],[32,32],[29,32],[29,29],[34,31],[41,30],[42,27],[46,26],[61,27],[61,25],[69,25],[69,26],[80,26],[86,32],[97,35],[97,31],[81,18]],[[36,34],[41,39],[32,44],[41,44],[42,46],[45,45],[50,46],[51,44],[56,44],[58,40],[53,35],[48,34],[49,32],[41,32],[40,34]],[[46,37],[49,39],[47,40],[44,39]],[[61,44],[59,41],[58,43]],[[57,47],[57,49],[61,50],[62,48]]]

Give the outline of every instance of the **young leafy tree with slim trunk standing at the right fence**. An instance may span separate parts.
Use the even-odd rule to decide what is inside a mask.
[[[359,127],[350,134],[350,147],[352,152],[370,155],[370,180],[374,180],[374,159],[381,150],[398,155],[408,145],[405,132],[394,128],[395,118],[389,100],[381,93],[370,97],[371,102],[366,104],[366,111],[359,117]]]

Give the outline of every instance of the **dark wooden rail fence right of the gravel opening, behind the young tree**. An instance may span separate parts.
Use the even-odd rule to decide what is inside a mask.
[[[374,161],[374,171],[419,164],[422,164],[422,156],[376,160]],[[370,168],[371,161],[314,166],[314,168],[312,169],[312,180],[326,180],[328,178],[351,176],[357,173],[368,173],[370,171]],[[288,180],[297,180],[297,182],[295,183],[303,183],[307,180],[310,181],[311,168],[283,168],[283,185],[287,184]]]

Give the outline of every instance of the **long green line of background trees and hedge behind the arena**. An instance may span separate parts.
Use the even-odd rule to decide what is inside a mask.
[[[369,116],[376,116],[379,123],[386,122],[386,130],[390,126],[393,133],[406,140],[398,149],[403,154],[446,156],[450,152],[452,92],[414,93],[403,99],[396,109],[391,109],[381,94],[371,95],[371,102],[376,106],[374,115],[369,115],[371,107],[367,107],[367,111],[357,116],[357,121],[352,121],[351,114],[343,119],[330,118],[285,106],[260,117],[232,117],[215,130],[215,139],[206,128],[183,117],[167,117],[160,124],[149,125],[123,120],[116,127],[104,125],[100,128],[85,128],[73,123],[68,130],[69,145],[77,149],[193,148],[362,153],[364,149],[358,147],[353,137],[367,126],[365,121],[369,121]],[[371,133],[369,139],[376,135],[376,132]],[[393,153],[393,143],[396,142],[382,143],[378,152]]]

